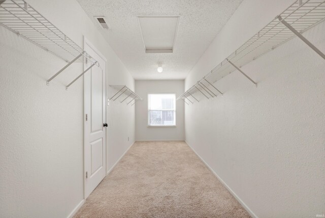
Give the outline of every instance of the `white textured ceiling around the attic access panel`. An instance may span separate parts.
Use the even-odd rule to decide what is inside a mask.
[[[185,79],[242,0],[77,0],[136,80]],[[104,30],[94,16],[105,16]],[[148,54],[138,16],[180,16],[173,53]],[[164,71],[157,72],[161,64]]]

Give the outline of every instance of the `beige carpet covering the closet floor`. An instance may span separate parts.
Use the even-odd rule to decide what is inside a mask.
[[[185,142],[136,142],[74,217],[250,217]]]

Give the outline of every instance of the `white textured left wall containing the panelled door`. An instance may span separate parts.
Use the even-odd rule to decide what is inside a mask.
[[[85,35],[105,55],[108,84],[134,89],[133,78],[75,0],[28,3],[79,46]],[[74,63],[46,86],[65,64],[0,26],[1,217],[67,217],[83,200],[83,79],[65,90],[83,64]],[[107,121],[109,170],[135,140],[134,107],[108,106]]]

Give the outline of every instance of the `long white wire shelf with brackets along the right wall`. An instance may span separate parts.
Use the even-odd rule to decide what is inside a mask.
[[[176,100],[182,99],[186,104],[193,104],[195,101],[199,102],[198,97],[194,97],[194,94],[197,92],[201,93],[208,100],[210,97],[216,97],[216,92],[223,95],[213,84],[236,70],[257,87],[257,83],[246,75],[241,70],[241,67],[277,48],[295,36],[299,37],[318,55],[325,59],[324,53],[302,35],[303,32],[324,20],[325,1],[295,1]]]

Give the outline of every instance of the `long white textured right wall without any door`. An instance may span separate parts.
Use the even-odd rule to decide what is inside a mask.
[[[293,1],[244,0],[190,71],[185,89]],[[325,52],[325,22],[304,33]],[[294,38],[215,83],[224,95],[185,105],[185,137],[258,217],[324,214],[325,61]]]

